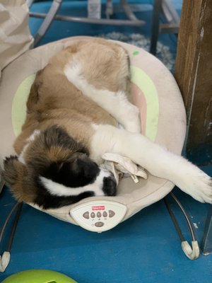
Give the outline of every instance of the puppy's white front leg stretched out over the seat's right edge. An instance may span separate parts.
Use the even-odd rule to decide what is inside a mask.
[[[95,134],[90,142],[91,158],[100,161],[105,152],[122,154],[152,175],[170,180],[199,202],[212,203],[211,178],[182,156],[172,154],[141,134],[110,125],[94,127]]]

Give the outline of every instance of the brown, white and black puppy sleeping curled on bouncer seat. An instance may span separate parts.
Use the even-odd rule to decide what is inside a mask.
[[[140,133],[129,83],[126,51],[102,39],[76,42],[37,73],[14,144],[18,155],[4,161],[4,178],[18,201],[49,209],[116,195],[112,173],[101,167],[101,156],[111,152],[212,203],[208,175]]]

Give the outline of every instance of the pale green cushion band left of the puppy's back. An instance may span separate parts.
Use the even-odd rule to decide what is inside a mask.
[[[24,81],[22,81],[22,83],[20,83],[20,86],[18,86],[18,89],[13,98],[12,125],[13,125],[13,132],[16,135],[16,137],[18,136],[18,134],[20,134],[21,127],[25,122],[26,103],[30,93],[30,88],[33,84],[33,81],[35,81],[35,75],[36,74],[28,76]]]

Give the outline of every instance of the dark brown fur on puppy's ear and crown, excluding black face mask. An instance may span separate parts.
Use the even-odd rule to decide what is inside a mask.
[[[25,164],[18,161],[18,156],[5,159],[3,178],[18,202],[33,203],[40,195],[39,176],[52,163],[61,166],[74,160],[76,152],[88,154],[88,149],[69,137],[64,129],[49,127],[30,142],[24,155]]]

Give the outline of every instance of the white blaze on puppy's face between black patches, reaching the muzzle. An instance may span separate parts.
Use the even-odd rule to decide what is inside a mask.
[[[40,176],[40,181],[51,195],[56,195],[57,197],[80,195],[81,193],[88,191],[94,192],[95,196],[103,196],[105,195],[102,191],[103,179],[109,176],[110,173],[108,171],[101,169],[99,175],[95,179],[95,182],[83,187],[66,187],[65,185],[59,184],[42,176]]]

